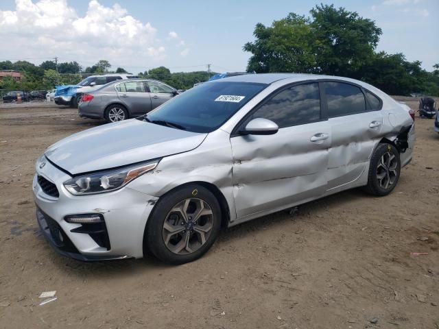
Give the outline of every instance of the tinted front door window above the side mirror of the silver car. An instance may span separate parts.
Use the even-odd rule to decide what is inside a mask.
[[[250,119],[274,121],[279,128],[320,120],[320,94],[317,83],[292,86],[266,101]]]

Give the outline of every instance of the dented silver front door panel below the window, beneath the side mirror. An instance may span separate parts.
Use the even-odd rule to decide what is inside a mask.
[[[315,134],[329,136],[328,122],[230,138],[238,218],[323,195],[331,138],[311,142]]]

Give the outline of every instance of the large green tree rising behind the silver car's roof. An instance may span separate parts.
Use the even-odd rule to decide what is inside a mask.
[[[258,23],[247,71],[355,75],[373,54],[381,29],[356,12],[317,5],[311,18],[289,13],[271,27]]]

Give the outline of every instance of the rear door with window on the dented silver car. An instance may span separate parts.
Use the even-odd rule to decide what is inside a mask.
[[[327,99],[331,149],[329,149],[328,191],[355,182],[366,169],[375,145],[381,139],[381,101],[366,101],[360,86],[346,82],[323,82]]]

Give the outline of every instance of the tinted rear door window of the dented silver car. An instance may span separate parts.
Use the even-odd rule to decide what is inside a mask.
[[[324,82],[329,117],[366,112],[366,100],[357,86],[342,82]]]

